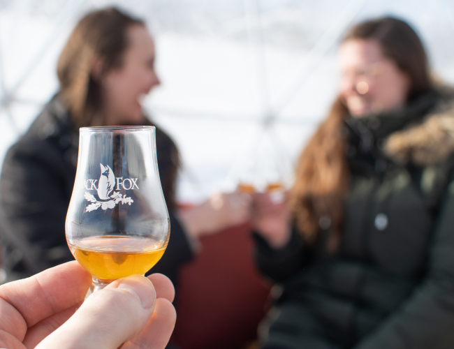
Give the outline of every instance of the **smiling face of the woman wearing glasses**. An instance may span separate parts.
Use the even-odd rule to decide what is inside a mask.
[[[339,58],[340,96],[353,117],[390,112],[405,105],[409,76],[383,55],[376,40],[346,40]]]

